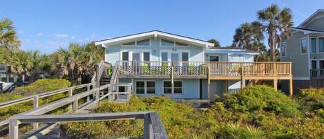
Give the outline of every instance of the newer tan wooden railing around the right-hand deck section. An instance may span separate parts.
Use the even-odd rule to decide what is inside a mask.
[[[292,75],[291,62],[209,62],[211,75]]]

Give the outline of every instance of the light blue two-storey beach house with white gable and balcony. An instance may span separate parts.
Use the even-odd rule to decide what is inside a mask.
[[[159,30],[95,44],[106,48],[105,61],[115,67],[118,82],[132,83],[140,96],[211,100],[251,80],[292,79],[289,62],[254,62],[254,51],[214,48],[208,41]]]

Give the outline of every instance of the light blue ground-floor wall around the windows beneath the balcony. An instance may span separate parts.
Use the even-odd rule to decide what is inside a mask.
[[[133,94],[136,94],[136,81],[155,81],[155,94],[154,95],[165,95],[166,97],[175,98],[175,99],[200,99],[200,84],[199,80],[181,80],[182,81],[182,94],[164,94],[163,93],[163,81],[169,79],[156,79],[156,80],[142,80],[142,79],[133,79]],[[177,81],[177,80],[175,80]],[[131,79],[120,78],[120,83],[131,83]],[[154,95],[145,95],[137,94],[139,96],[154,96]]]

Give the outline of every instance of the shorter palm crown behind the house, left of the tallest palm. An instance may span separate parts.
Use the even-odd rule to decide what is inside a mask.
[[[260,50],[263,46],[263,26],[258,21],[244,23],[236,28],[233,36],[233,46],[247,48],[249,50]]]

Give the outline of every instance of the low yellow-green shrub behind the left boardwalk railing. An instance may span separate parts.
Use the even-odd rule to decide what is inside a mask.
[[[17,87],[15,94],[33,95],[37,93],[45,93],[57,89],[64,89],[70,86],[71,83],[64,79],[41,79],[29,84],[28,86]]]

